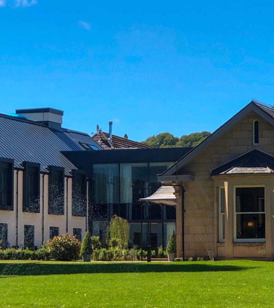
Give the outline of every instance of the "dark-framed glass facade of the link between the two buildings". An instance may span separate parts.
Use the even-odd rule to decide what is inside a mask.
[[[138,223],[149,219],[149,206],[143,205],[141,213],[140,198],[154,193],[161,183],[157,175],[164,172],[173,163],[125,163],[125,164],[93,164],[92,189],[92,221],[93,235],[101,236],[104,230],[96,223],[110,220],[113,215],[123,217],[129,222]],[[141,217],[142,215],[142,217]],[[153,223],[161,226],[162,218],[166,221],[175,221],[176,210],[172,206],[151,205],[150,215]],[[161,229],[161,228],[160,228]],[[137,242],[137,233],[132,233],[132,241]],[[158,233],[157,233],[158,234]],[[153,237],[160,241],[160,234]],[[155,244],[156,245],[156,244]]]

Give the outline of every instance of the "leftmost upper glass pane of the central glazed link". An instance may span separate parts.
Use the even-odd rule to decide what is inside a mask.
[[[94,164],[94,203],[119,203],[119,165]]]

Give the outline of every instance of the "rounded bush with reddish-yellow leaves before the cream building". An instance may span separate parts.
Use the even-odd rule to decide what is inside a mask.
[[[81,242],[66,233],[49,240],[46,249],[56,261],[74,261],[79,259]]]

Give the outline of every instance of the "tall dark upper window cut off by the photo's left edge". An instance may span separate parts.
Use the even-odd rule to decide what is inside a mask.
[[[0,209],[13,210],[13,162],[0,159]]]

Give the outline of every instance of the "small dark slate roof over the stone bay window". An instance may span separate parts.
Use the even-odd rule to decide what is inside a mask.
[[[211,176],[246,173],[274,173],[274,157],[258,149],[254,149],[213,169]]]

